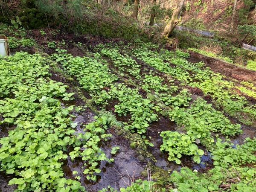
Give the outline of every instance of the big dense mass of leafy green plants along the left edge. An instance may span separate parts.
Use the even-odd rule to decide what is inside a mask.
[[[113,162],[100,148],[100,142],[111,137],[105,134],[107,117],[95,117],[84,134],[77,135],[77,123],[70,118],[73,106],[63,108],[56,99],[72,99],[73,93],[66,93],[64,84],[47,79],[49,66],[44,57],[17,53],[2,58],[0,66],[8,82],[0,84],[6,91],[0,100],[0,124],[15,126],[8,137],[0,139],[1,171],[15,175],[9,184],[16,184],[18,191],[84,191],[80,182],[63,177],[62,160],[81,157],[87,179],[96,180],[95,173],[101,172],[98,162]],[[73,150],[68,151],[68,146]]]

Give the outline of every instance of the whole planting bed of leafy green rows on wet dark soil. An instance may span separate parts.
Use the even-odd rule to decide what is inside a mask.
[[[0,58],[1,191],[255,191],[256,73],[70,41]]]

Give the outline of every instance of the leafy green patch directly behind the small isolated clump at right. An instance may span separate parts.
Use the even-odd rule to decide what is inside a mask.
[[[193,140],[200,139],[201,143],[207,147],[214,142],[211,131],[225,135],[236,135],[242,132],[241,125],[233,125],[227,117],[203,99],[195,100],[189,109],[176,106],[170,110],[169,116],[179,126],[184,126]]]

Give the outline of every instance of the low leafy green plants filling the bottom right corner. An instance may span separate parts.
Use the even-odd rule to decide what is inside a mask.
[[[180,172],[174,171],[169,182],[173,183],[172,192],[198,192],[198,191],[218,191],[220,186],[230,186],[231,192],[249,191],[253,192],[256,182],[256,169],[249,167],[230,167],[225,169],[215,167],[209,172],[200,174],[196,170],[192,171],[187,167],[181,168]]]

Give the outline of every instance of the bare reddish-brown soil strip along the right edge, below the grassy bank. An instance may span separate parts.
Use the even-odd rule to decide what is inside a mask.
[[[189,52],[190,58],[189,62],[197,63],[200,61],[204,61],[206,67],[210,67],[212,71],[215,73],[221,73],[224,76],[232,77],[239,81],[250,81],[256,84],[256,72],[247,70],[241,67],[238,67],[233,64],[225,63],[224,61],[220,61],[215,58],[210,58],[204,55],[201,55],[196,52]]]

